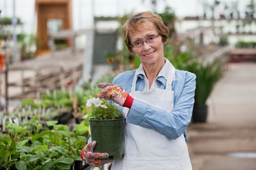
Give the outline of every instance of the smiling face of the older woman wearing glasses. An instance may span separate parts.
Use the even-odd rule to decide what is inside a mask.
[[[147,27],[140,27],[138,31],[129,32],[131,44],[138,40],[144,41],[151,35],[159,35],[153,23],[147,24]],[[162,61],[164,57],[163,46],[162,37],[158,36],[154,42],[148,44],[144,41],[140,48],[133,48],[133,51],[139,57],[142,64],[151,65]]]

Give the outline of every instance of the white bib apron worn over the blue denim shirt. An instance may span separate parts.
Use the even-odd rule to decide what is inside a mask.
[[[135,91],[138,69],[136,70],[130,95],[139,101],[164,109],[173,110],[172,82],[175,68],[166,60],[171,71],[168,73],[166,89]],[[140,65],[140,67],[142,67]],[[169,69],[170,70],[170,69]],[[123,109],[126,118],[129,109]],[[147,113],[146,113],[147,114]],[[111,170],[192,170],[187,144],[182,134],[177,139],[169,139],[153,129],[131,123],[125,124],[124,158],[113,162]]]

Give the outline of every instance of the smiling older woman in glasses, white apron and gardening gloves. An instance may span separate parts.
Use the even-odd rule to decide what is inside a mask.
[[[196,76],[181,71],[164,58],[168,28],[161,17],[141,12],[122,26],[125,44],[141,64],[119,74],[103,88],[99,98],[118,103],[126,118],[124,157],[111,170],[192,170],[186,144],[186,128],[194,104]],[[93,153],[96,141],[81,157],[93,166],[109,161],[107,153]]]

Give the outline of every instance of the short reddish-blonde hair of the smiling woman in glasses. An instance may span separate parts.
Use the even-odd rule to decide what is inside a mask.
[[[132,17],[130,17],[122,26],[122,34],[124,37],[124,42],[130,52],[133,52],[131,47],[131,41],[129,37],[129,32],[137,31],[140,26],[147,28],[149,23],[153,23],[154,27],[162,37],[162,42],[166,43],[168,40],[169,29],[164,25],[163,20],[157,14],[153,14],[150,11],[140,12]]]

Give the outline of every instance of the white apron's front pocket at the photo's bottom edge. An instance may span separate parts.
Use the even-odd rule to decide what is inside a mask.
[[[178,157],[126,158],[123,170],[180,170],[180,163]]]

